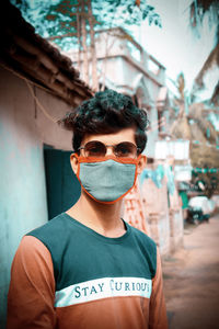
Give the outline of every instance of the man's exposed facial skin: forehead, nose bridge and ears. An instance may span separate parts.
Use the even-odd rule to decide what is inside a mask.
[[[113,134],[105,134],[105,135],[85,135],[81,146],[84,146],[87,143],[92,141],[92,140],[97,140],[102,141],[105,145],[116,145],[123,141],[129,141],[136,145],[136,139],[135,139],[135,133],[136,128],[135,127],[129,127],[129,128],[124,128],[117,133]],[[80,150],[80,155],[84,156],[84,150]],[[107,147],[107,152],[106,156],[113,156],[113,149],[111,147]],[[78,159],[74,155],[71,155],[71,167],[73,172],[77,174],[78,172]],[[138,174],[143,170],[146,167],[146,156],[140,156],[137,172]]]

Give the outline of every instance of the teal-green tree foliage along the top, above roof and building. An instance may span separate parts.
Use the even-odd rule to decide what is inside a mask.
[[[88,24],[88,5],[82,10],[82,0],[11,0],[22,12],[24,19],[43,37],[49,37],[62,49],[77,45],[77,12],[84,15]],[[146,0],[92,0],[94,30],[122,26],[128,30],[148,19],[149,24],[161,26],[154,8]],[[54,37],[54,38],[53,38]],[[88,41],[89,42],[89,41]]]

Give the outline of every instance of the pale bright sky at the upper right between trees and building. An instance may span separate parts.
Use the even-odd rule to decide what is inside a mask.
[[[207,59],[214,46],[215,26],[210,30],[207,20],[200,30],[200,37],[195,35],[188,23],[188,5],[191,0],[150,0],[160,14],[162,27],[148,24],[145,21],[140,29],[134,27],[134,35],[143,48],[166,67],[166,75],[175,80],[183,71],[187,90]],[[207,90],[199,94],[200,100],[209,98],[219,77],[215,69],[206,79]],[[174,87],[170,80],[170,88]]]

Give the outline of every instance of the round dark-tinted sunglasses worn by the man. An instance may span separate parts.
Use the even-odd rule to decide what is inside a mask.
[[[79,147],[79,149],[84,150],[85,157],[101,158],[105,157],[107,152],[107,147],[112,147],[114,156],[117,158],[136,158],[140,151],[137,146],[130,141],[122,141],[116,145],[105,145],[99,140],[92,140],[87,143],[84,146]]]

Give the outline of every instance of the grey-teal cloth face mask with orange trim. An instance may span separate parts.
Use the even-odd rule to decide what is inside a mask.
[[[135,185],[137,159],[99,159],[78,157],[77,177],[82,189],[95,201],[112,204],[124,197]]]

